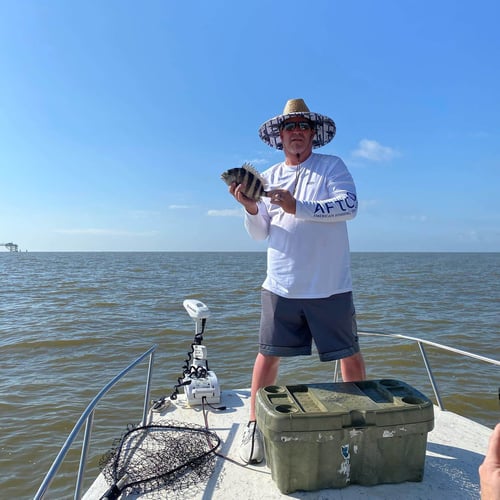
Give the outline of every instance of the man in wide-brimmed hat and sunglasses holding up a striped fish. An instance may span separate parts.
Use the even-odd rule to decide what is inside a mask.
[[[310,355],[314,339],[321,361],[341,359],[344,381],[365,378],[346,227],[357,212],[356,189],[340,158],[312,152],[335,131],[331,118],[310,112],[302,99],[289,100],[283,114],[259,129],[261,139],[285,155],[262,174],[269,197],[255,202],[243,194],[243,184],[229,187],[245,207],[250,236],[268,239],[259,353],[240,448],[246,463],[264,458],[255,399],[258,389],[275,384],[282,356]]]

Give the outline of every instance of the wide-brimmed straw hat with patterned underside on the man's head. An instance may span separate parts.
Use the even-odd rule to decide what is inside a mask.
[[[260,126],[260,138],[272,148],[283,149],[280,126],[284,121],[295,116],[303,116],[314,123],[316,133],[313,138],[313,148],[320,148],[333,139],[336,131],[335,122],[328,116],[311,113],[304,99],[290,99],[287,101],[283,114],[271,118]]]

